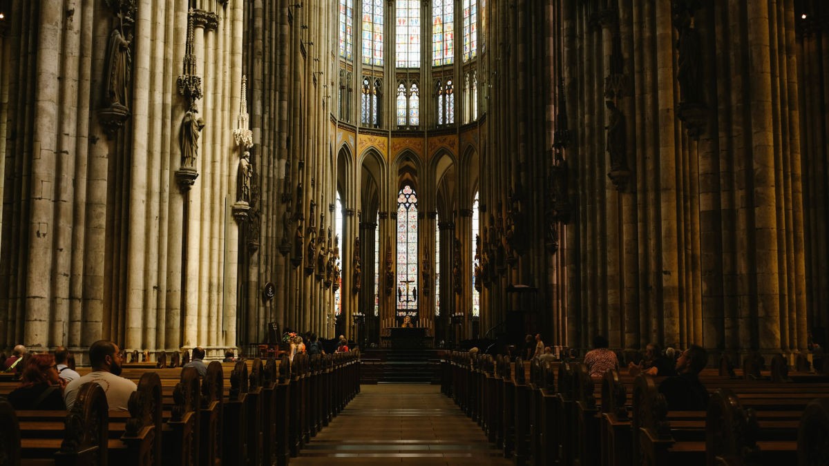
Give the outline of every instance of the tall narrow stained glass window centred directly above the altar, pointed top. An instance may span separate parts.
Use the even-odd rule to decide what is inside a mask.
[[[417,310],[417,195],[409,185],[397,195],[398,315]]]

